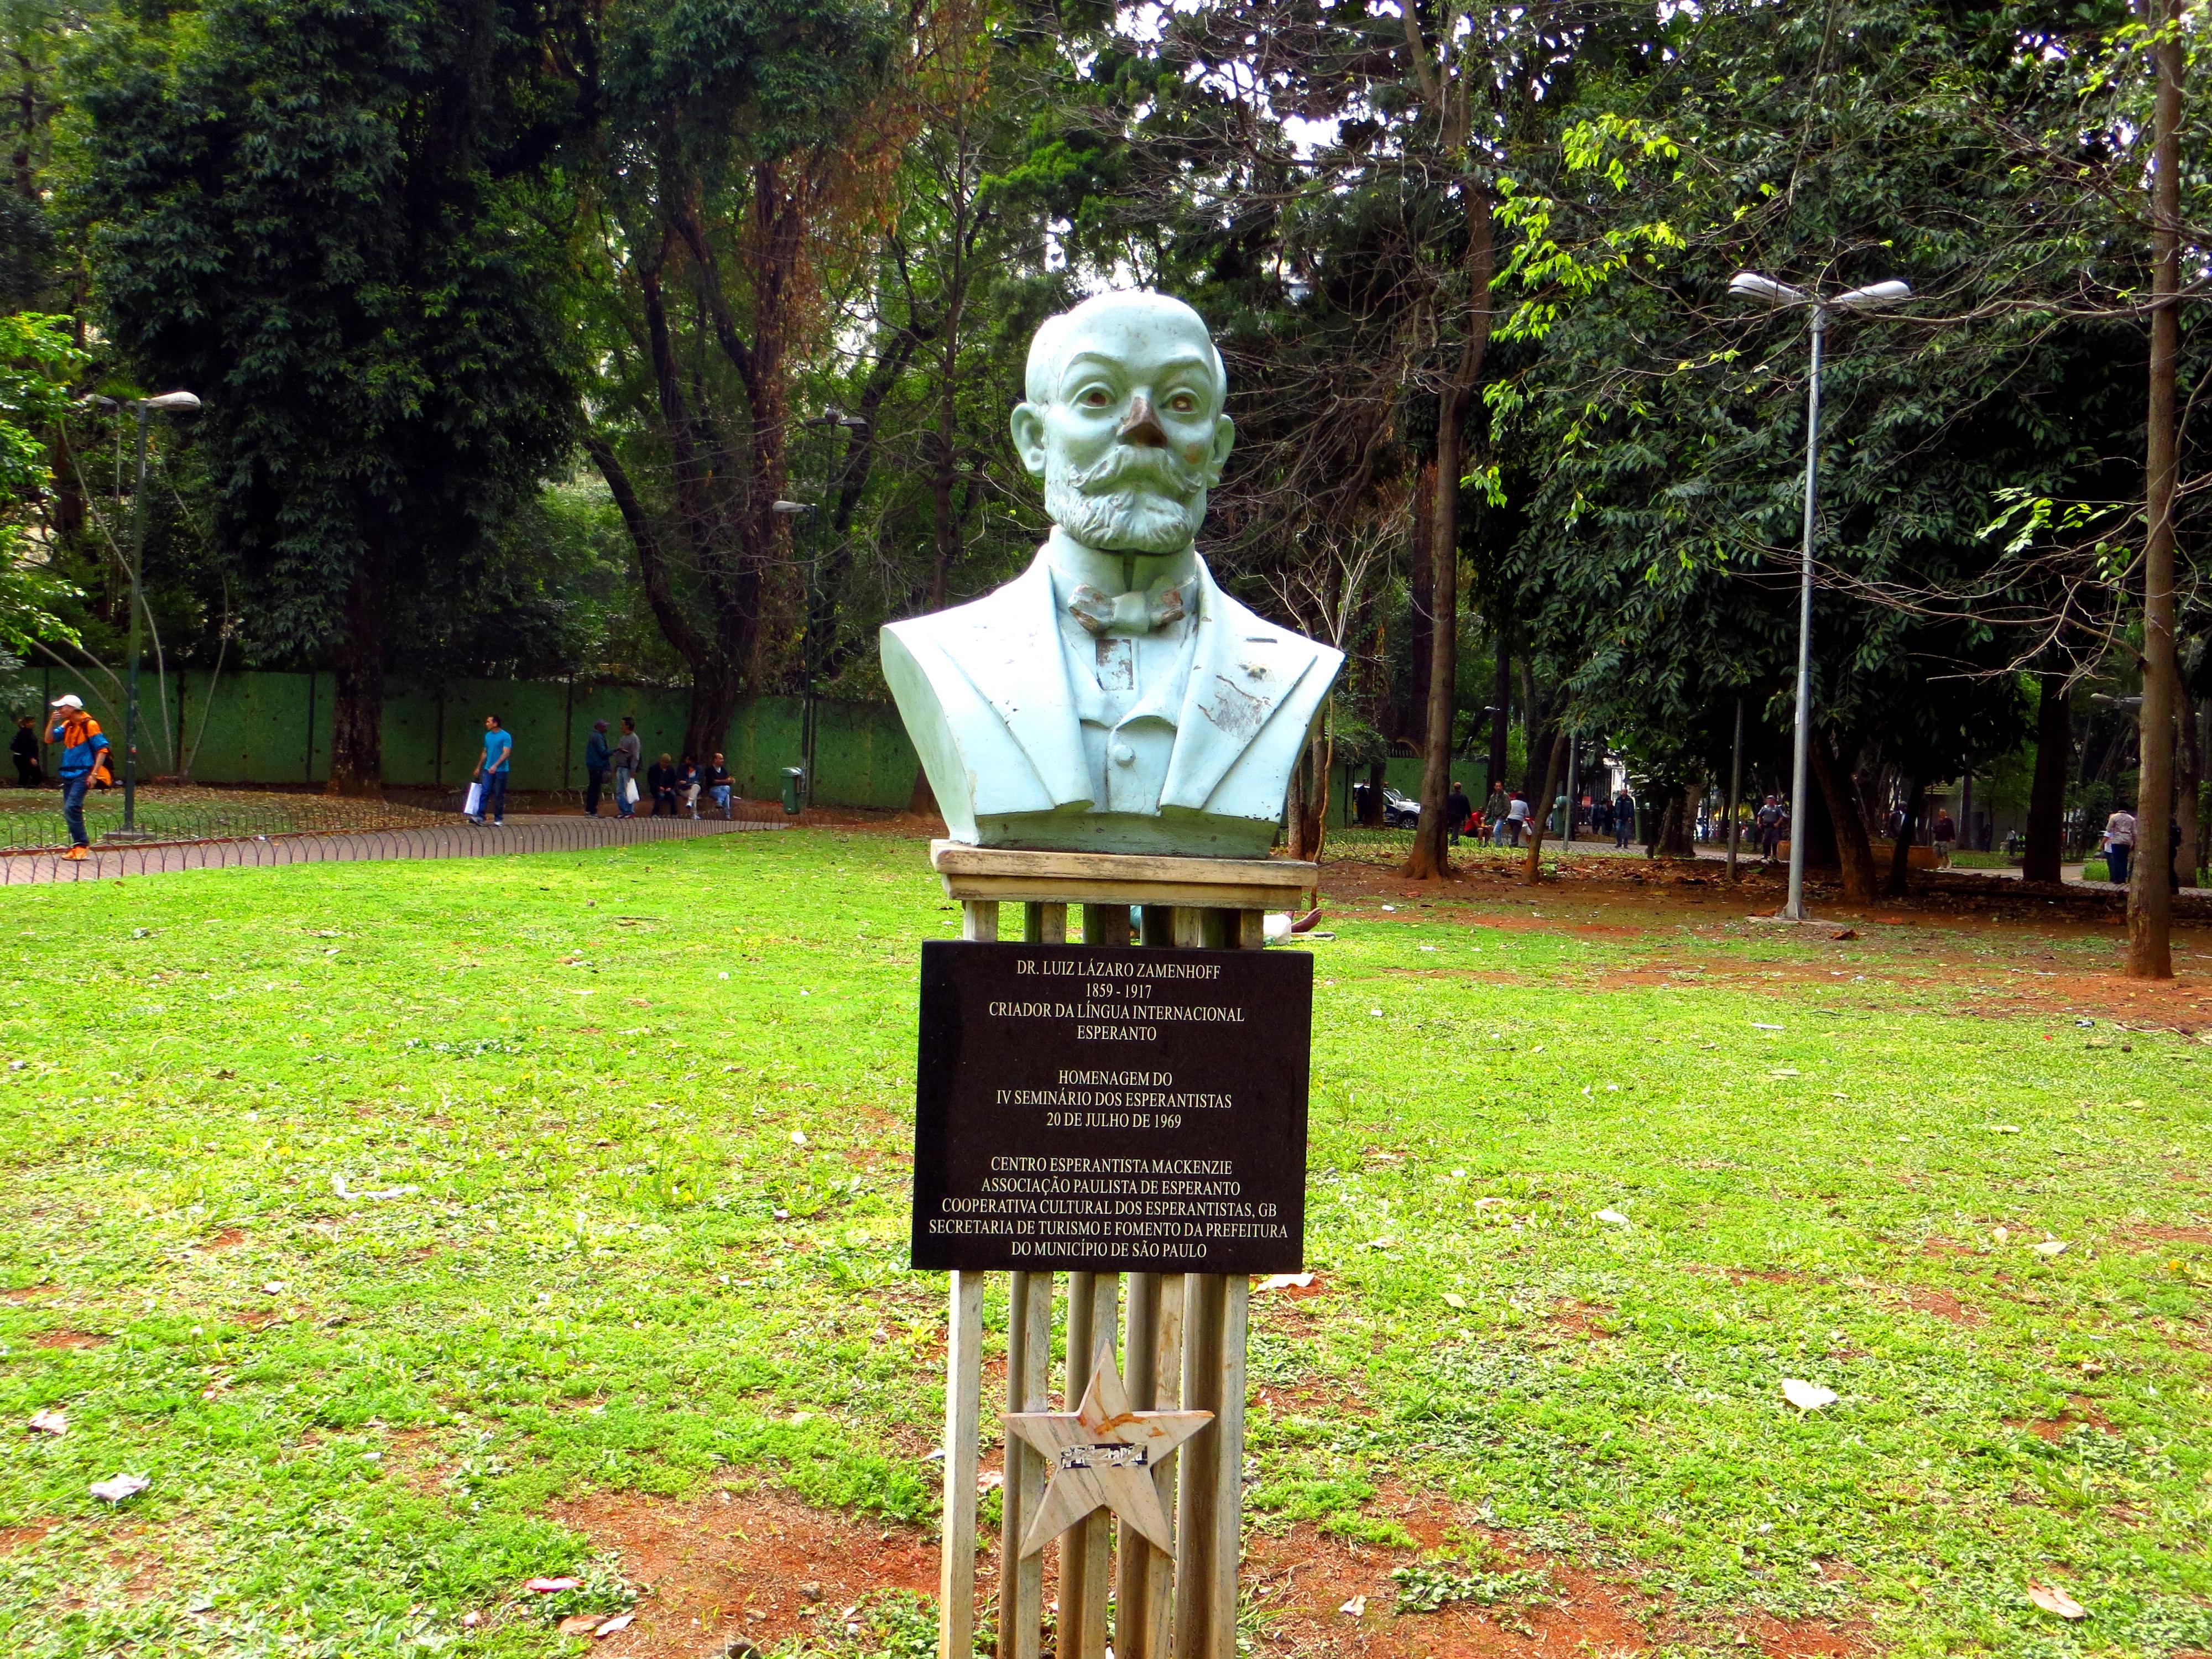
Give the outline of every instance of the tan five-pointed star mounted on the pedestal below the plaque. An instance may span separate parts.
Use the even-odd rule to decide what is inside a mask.
[[[1212,1411],[1130,1411],[1113,1345],[1099,1343],[1091,1387],[1075,1411],[1006,1413],[1006,1429],[1044,1455],[1044,1502],[1022,1540],[1022,1555],[1035,1555],[1095,1509],[1110,1509],[1152,1548],[1172,1553],[1152,1471],[1212,1420]]]

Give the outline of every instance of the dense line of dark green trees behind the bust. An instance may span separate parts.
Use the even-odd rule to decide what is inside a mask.
[[[2051,874],[2068,790],[2141,759],[2090,699],[2148,690],[2203,863],[2203,4],[18,0],[4,27],[0,285],[66,319],[15,363],[206,398],[161,436],[157,628],[175,659],[334,666],[349,787],[387,672],[677,679],[701,750],[752,692],[876,695],[880,622],[1035,544],[1029,332],[1150,283],[1230,365],[1217,568],[1352,657],[1292,841],[1332,761],[1420,754],[1433,874],[1453,774],[1548,799],[1615,752],[1679,847],[1739,708],[1763,774],[1787,743],[1805,316],[1728,301],[1761,270],[1916,294],[1829,336],[1805,834],[1871,894],[1902,878],[1891,807],[2039,739]],[[2154,336],[2172,670],[2157,604],[2143,633]],[[33,425],[9,615],[111,653],[115,431]]]

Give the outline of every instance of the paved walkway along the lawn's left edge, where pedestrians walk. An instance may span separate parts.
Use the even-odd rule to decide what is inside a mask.
[[[117,880],[164,876],[179,869],[274,869],[281,865],[345,865],[383,858],[484,858],[509,852],[584,852],[630,847],[641,841],[763,834],[783,823],[752,818],[584,818],[513,816],[504,827],[473,823],[427,830],[358,830],[349,834],[279,834],[241,841],[164,841],[144,847],[93,847],[91,858],[60,854],[0,856],[0,887],[55,880]]]

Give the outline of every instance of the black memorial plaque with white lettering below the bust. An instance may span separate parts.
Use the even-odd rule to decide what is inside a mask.
[[[1305,951],[922,945],[914,1265],[1296,1272]]]

